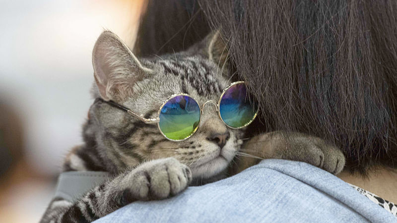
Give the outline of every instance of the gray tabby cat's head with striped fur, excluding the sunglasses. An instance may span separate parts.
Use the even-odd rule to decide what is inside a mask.
[[[146,118],[155,118],[164,100],[179,93],[189,94],[202,107],[208,100],[218,102],[232,82],[226,57],[217,33],[185,52],[137,58],[115,34],[105,31],[93,50],[93,94]],[[119,169],[174,157],[189,166],[194,177],[206,178],[224,170],[242,144],[243,130],[228,128],[210,103],[203,109],[197,132],[179,142],[167,140],[157,124],[145,124],[100,100],[89,114],[93,126],[89,131],[101,156]]]

